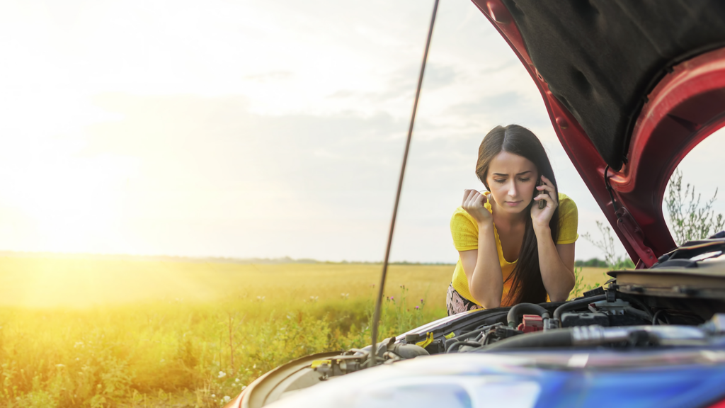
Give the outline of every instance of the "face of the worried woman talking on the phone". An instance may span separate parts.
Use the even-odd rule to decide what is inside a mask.
[[[500,152],[489,164],[486,184],[497,209],[520,213],[534,197],[539,172],[531,160],[509,152]]]

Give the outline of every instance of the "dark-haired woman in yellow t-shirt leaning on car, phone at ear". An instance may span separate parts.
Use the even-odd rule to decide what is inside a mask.
[[[493,128],[479,147],[476,175],[487,191],[465,190],[451,219],[460,256],[448,314],[565,301],[574,286],[576,204],[558,192],[537,136],[518,125]]]

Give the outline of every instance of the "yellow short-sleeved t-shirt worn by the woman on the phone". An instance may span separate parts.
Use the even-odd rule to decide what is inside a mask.
[[[493,212],[490,203],[486,203],[485,206],[488,211]],[[556,243],[571,244],[575,242],[579,238],[579,234],[576,233],[576,225],[578,222],[579,214],[576,211],[576,204],[571,198],[559,193],[559,239]],[[456,208],[456,211],[451,217],[451,235],[453,237],[453,245],[457,250],[479,249],[479,224],[476,223],[476,220],[463,207]],[[508,295],[508,291],[511,289],[511,281],[506,282],[506,279],[513,272],[516,261],[509,262],[503,257],[501,241],[495,225],[494,238],[501,264],[501,272],[503,273],[503,280],[505,282],[502,296],[502,299],[505,301],[506,295]],[[452,285],[453,289],[460,293],[461,296],[473,303],[479,304],[473,299],[471,292],[468,290],[468,279],[465,277],[465,272],[463,272],[463,264],[460,262],[460,256],[453,271]],[[501,306],[507,305],[502,304]]]

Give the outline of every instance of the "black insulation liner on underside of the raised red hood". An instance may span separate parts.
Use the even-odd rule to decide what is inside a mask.
[[[549,89],[616,171],[660,78],[725,46],[721,0],[502,1]]]

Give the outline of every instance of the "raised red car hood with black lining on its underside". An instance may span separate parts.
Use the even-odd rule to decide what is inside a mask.
[[[725,3],[473,0],[539,87],[574,167],[638,267],[675,248],[662,197],[725,122]]]

